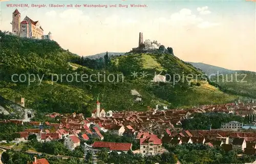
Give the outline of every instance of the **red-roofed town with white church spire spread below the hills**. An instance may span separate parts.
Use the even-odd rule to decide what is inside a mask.
[[[15,164],[245,163],[256,158],[255,119],[253,101],[144,112],[106,112],[97,102],[90,117],[2,120],[0,148],[2,161]]]

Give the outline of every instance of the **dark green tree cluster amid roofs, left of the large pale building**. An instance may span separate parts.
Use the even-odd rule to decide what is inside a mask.
[[[225,113],[193,113],[191,119],[183,120],[182,127],[189,130],[209,130],[220,129],[222,123],[228,123],[230,121],[238,121],[245,123],[245,119],[240,115],[225,114]]]

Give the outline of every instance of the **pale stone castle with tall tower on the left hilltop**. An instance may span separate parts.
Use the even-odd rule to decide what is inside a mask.
[[[17,9],[12,13],[11,25],[12,33],[19,37],[52,40],[51,32],[49,32],[48,35],[44,35],[44,30],[39,24],[39,21],[33,21],[26,16],[23,21],[20,22],[20,13]]]

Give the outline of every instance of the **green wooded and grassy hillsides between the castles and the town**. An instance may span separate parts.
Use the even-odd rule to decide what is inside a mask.
[[[191,82],[152,82],[155,72],[161,75],[203,74],[191,64],[187,64],[174,55],[165,53],[128,54],[113,57],[102,69],[92,69],[72,63],[80,60],[75,54],[63,50],[57,42],[19,38],[0,33],[0,96],[6,99],[25,97],[29,108],[44,112],[83,112],[89,114],[95,108],[97,97],[106,110],[146,110],[147,106],[166,104],[168,107],[188,107],[199,104],[225,103],[237,96],[222,92],[203,79]],[[73,66],[71,66],[73,65]],[[142,77],[145,72],[147,76]],[[53,74],[123,74],[123,81],[54,82]],[[132,73],[137,72],[138,77]],[[43,80],[28,85],[28,82],[13,82],[13,74],[35,74]],[[173,78],[173,77],[172,77]],[[33,79],[33,77],[32,77]],[[79,79],[79,77],[78,77]],[[111,79],[111,78],[110,78]],[[17,77],[14,78],[17,80]],[[79,79],[80,80],[80,79]],[[100,77],[103,80],[103,76]],[[38,85],[40,83],[40,85]],[[137,101],[136,101],[137,100]]]

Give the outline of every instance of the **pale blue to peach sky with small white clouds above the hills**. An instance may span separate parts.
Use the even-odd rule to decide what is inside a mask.
[[[12,12],[1,2],[0,30],[11,31]],[[147,8],[18,8],[39,20],[64,49],[80,56],[128,52],[144,39],[172,46],[184,61],[256,71],[256,3],[241,1],[44,1],[44,4],[146,4]]]

